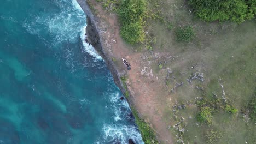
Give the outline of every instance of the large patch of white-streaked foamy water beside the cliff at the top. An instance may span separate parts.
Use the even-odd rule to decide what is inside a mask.
[[[30,14],[22,23],[27,31],[36,34],[44,40],[44,37],[54,37],[53,46],[63,41],[76,43],[81,28],[86,25],[86,16],[75,0],[53,1],[59,9],[58,13]],[[73,7],[67,7],[72,4]]]

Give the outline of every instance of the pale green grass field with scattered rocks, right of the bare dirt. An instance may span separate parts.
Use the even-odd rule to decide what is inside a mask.
[[[153,51],[168,52],[172,56],[162,59],[166,63],[161,71],[156,68],[154,71],[162,77],[162,82],[167,81],[166,89],[174,99],[166,108],[166,123],[173,126],[181,120],[180,117],[185,123],[182,134],[175,128],[170,128],[170,131],[179,135],[177,140],[180,138],[184,143],[254,143],[256,125],[246,118],[243,111],[255,95],[256,21],[241,25],[231,22],[205,23],[193,16],[184,1],[154,2],[160,5],[164,22],[159,20],[148,26],[157,39],[152,46]],[[172,23],[171,30],[168,23]],[[189,43],[176,40],[175,29],[183,26],[191,26],[195,30],[196,35]],[[166,80],[167,68],[174,78]],[[194,79],[188,82],[193,73],[203,73],[204,81]],[[177,86],[181,82],[183,85]],[[221,104],[214,104],[218,108],[212,112],[212,122],[200,123],[196,118],[199,109],[197,101],[203,98],[211,102],[216,99],[214,97]],[[225,104],[232,105],[238,112],[232,114],[225,111]],[[210,133],[211,130],[216,133]]]

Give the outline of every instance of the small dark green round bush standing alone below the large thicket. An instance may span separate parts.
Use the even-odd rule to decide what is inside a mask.
[[[178,28],[176,30],[177,41],[189,42],[195,36],[195,31],[191,26],[184,26],[183,28]]]

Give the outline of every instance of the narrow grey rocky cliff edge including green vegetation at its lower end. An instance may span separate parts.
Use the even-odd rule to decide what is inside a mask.
[[[153,128],[152,123],[148,121],[148,119],[142,118],[141,113],[139,113],[139,110],[137,110],[136,104],[135,104],[135,92],[133,92],[133,89],[131,89],[131,86],[128,86],[129,79],[126,79],[126,76],[128,75],[126,67],[123,67],[123,62],[118,63],[117,59],[113,59],[116,56],[111,52],[111,44],[109,43],[121,43],[121,46],[123,46],[123,41],[119,39],[120,41],[115,41],[111,38],[110,41],[110,34],[106,34],[106,29],[111,29],[109,26],[109,23],[105,23],[94,15],[89,7],[89,5],[86,3],[85,0],[77,0],[80,7],[83,9],[84,13],[87,15],[87,26],[86,26],[86,35],[88,38],[89,43],[94,46],[97,53],[104,59],[108,69],[110,70],[110,73],[113,76],[115,85],[118,86],[120,91],[123,94],[123,97],[126,98],[127,103],[129,104],[132,115],[135,118],[135,122],[137,124],[137,127],[142,135],[142,139],[145,143],[159,143],[159,138],[156,137],[156,130]],[[102,17],[101,17],[102,18]],[[115,23],[111,23],[115,24]],[[118,26],[117,26],[118,27]],[[113,31],[112,31],[113,32]],[[119,30],[118,30],[119,32]],[[113,33],[112,33],[113,34]],[[115,33],[115,36],[119,35],[119,33]],[[107,37],[107,38],[106,38]],[[112,35],[113,37],[113,35]],[[119,44],[120,45],[120,44]],[[129,53],[129,50],[126,51]],[[117,54],[117,53],[115,53]],[[118,57],[122,56],[121,53]],[[123,53],[124,56],[124,53]],[[121,58],[120,58],[121,59]],[[129,83],[130,84],[130,83]]]

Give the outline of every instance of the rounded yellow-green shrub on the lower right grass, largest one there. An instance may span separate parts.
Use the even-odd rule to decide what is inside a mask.
[[[197,121],[212,123],[212,112],[213,112],[213,109],[211,109],[208,106],[201,107],[199,112],[197,112],[197,117],[196,117]]]

